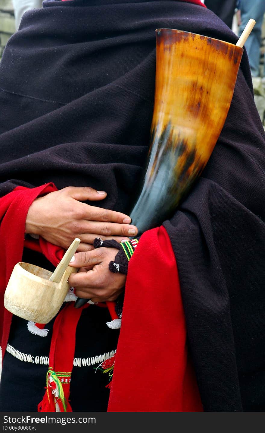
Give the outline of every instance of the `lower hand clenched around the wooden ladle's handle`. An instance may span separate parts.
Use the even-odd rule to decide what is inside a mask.
[[[109,271],[109,262],[115,259],[117,252],[116,248],[101,247],[74,255],[70,266],[80,269],[71,274],[68,281],[78,297],[93,302],[115,301],[126,281],[126,275]]]

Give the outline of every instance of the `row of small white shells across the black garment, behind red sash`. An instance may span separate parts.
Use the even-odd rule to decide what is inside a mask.
[[[49,365],[49,357],[48,356],[33,356],[28,353],[19,352],[19,350],[15,349],[11,344],[7,344],[6,352],[13,355],[15,358],[19,359],[19,361],[24,362],[32,362],[32,364],[42,364]],[[116,353],[116,350],[112,350],[111,352],[104,353],[99,356],[92,356],[91,358],[74,358],[73,366],[74,367],[86,367],[90,365],[100,364],[106,359],[112,358]]]

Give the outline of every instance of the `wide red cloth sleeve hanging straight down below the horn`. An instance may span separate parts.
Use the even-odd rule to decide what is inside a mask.
[[[141,236],[129,263],[108,411],[202,411],[175,255],[164,227]]]

